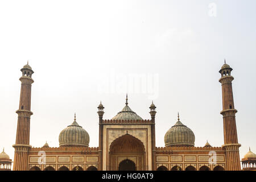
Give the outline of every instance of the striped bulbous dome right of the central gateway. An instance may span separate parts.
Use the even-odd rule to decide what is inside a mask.
[[[195,146],[195,135],[191,129],[180,122],[179,114],[178,121],[164,135],[164,143],[166,146]]]

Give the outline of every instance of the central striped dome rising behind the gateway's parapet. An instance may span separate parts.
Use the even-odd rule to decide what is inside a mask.
[[[128,106],[127,102],[127,94],[126,94],[126,103],[125,107],[117,114],[112,120],[142,120],[142,118],[137,115],[131,108]]]

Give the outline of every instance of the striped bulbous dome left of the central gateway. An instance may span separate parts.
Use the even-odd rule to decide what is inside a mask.
[[[90,137],[87,131],[85,131],[76,122],[76,114],[74,122],[61,131],[59,135],[60,147],[72,147],[72,146],[85,146],[88,147],[90,142]]]

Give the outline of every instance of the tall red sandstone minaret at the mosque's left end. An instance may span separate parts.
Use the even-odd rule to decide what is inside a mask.
[[[31,107],[31,84],[34,80],[31,78],[34,73],[28,65],[24,65],[22,69],[22,77],[19,80],[22,82],[20,88],[19,109],[16,111],[18,114],[18,124],[16,131],[16,142],[13,145],[14,152],[14,171],[28,170],[28,150],[30,146],[30,116],[33,114],[30,111]]]

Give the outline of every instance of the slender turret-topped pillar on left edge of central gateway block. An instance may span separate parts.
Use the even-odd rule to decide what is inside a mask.
[[[98,131],[98,156],[99,156],[99,165],[98,165],[98,170],[102,170],[102,165],[103,165],[103,154],[102,154],[102,149],[103,149],[103,114],[104,114],[104,106],[102,104],[98,105],[98,119],[99,119],[99,131]]]

